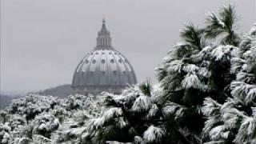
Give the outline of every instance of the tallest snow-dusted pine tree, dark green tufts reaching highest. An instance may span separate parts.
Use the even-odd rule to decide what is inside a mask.
[[[205,119],[202,104],[207,96],[224,102],[230,94],[230,58],[238,49],[234,33],[234,8],[211,13],[206,27],[192,24],[181,31],[179,42],[158,66],[162,94],[158,104],[166,119],[166,133],[176,143],[200,143]]]

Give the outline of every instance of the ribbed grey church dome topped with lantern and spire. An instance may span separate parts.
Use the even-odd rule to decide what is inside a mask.
[[[103,20],[97,46],[86,54],[74,71],[72,87],[78,93],[98,94],[102,91],[120,93],[126,86],[137,83],[133,67],[111,46],[110,32]]]

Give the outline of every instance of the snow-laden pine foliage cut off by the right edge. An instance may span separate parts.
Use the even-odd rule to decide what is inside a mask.
[[[210,143],[256,143],[256,25],[242,38],[238,54],[231,59],[232,98],[219,104],[206,98],[204,133]]]

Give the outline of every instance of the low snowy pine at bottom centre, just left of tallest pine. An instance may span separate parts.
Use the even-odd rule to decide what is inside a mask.
[[[154,103],[156,91],[146,82],[130,86],[120,95],[105,94],[106,110],[77,129],[80,137],[76,142],[166,143],[162,114]]]

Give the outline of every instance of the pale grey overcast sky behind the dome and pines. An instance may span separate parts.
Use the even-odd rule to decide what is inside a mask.
[[[233,3],[238,31],[256,22],[255,0],[1,0],[1,90],[31,91],[70,83],[83,56],[94,49],[106,18],[116,50],[134,66],[138,81],[151,78],[185,22]]]

